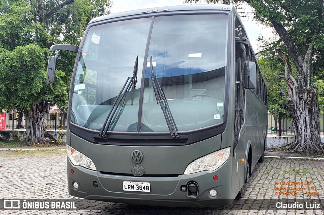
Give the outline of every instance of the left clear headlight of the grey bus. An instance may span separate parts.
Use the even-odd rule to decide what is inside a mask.
[[[67,157],[71,160],[71,162],[75,166],[82,166],[91,170],[97,170],[95,164],[92,162],[92,160],[84,155],[83,153],[75,150],[69,145],[66,145],[67,147]]]

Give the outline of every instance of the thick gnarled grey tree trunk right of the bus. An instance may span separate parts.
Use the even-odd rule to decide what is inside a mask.
[[[288,109],[295,136],[295,140],[289,149],[305,152],[307,155],[323,154],[324,144],[320,141],[317,92],[310,70],[312,46],[306,53],[303,71],[297,74],[298,83],[292,76],[291,64],[287,55],[280,49],[277,52],[285,62]]]

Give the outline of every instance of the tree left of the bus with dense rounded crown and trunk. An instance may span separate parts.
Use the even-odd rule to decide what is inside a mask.
[[[8,52],[5,59],[7,68],[6,81],[9,86],[7,104],[15,104],[27,110],[26,134],[31,142],[42,142],[45,139],[45,114],[48,113],[48,96],[60,94],[67,99],[66,86],[62,81],[65,74],[56,73],[56,84],[46,84],[47,49],[37,45],[18,46]],[[15,73],[11,72],[15,71]],[[19,74],[19,75],[18,75]]]

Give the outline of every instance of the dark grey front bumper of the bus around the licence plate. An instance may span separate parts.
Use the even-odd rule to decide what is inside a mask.
[[[231,195],[231,166],[230,158],[212,172],[201,171],[171,177],[135,177],[89,170],[74,166],[67,159],[68,188],[72,196],[108,202],[172,207],[222,206],[234,200]],[[124,191],[124,181],[149,182],[150,192]],[[73,187],[74,182],[77,182],[78,188]],[[197,197],[188,197],[187,185],[190,182],[198,184]],[[186,191],[183,187],[186,187]],[[216,190],[216,196],[211,196],[211,189]]]

